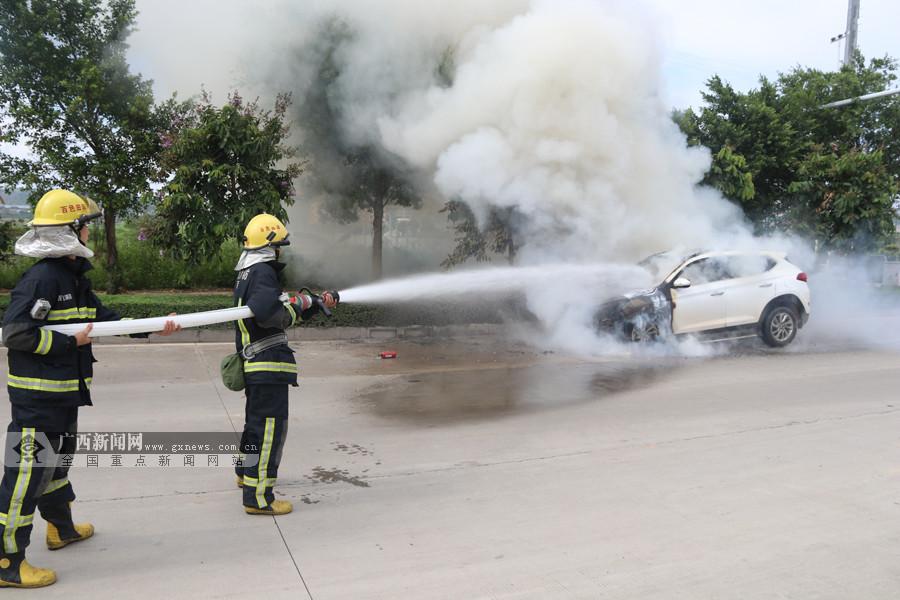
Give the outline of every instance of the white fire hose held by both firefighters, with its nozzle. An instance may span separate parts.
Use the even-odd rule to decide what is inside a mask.
[[[303,293],[309,293],[304,288]],[[337,292],[329,292],[335,301],[340,300]],[[315,294],[309,293],[313,299],[313,303],[319,307],[319,310],[326,317],[331,317],[331,311],[325,306],[325,301]],[[182,329],[189,327],[202,327],[204,325],[216,325],[219,323],[228,323],[237,321],[238,319],[250,319],[253,317],[253,311],[248,306],[238,306],[235,308],[222,308],[218,310],[207,310],[203,312],[186,313],[181,315],[169,315],[165,317],[149,317],[146,319],[123,319],[121,321],[97,321],[91,329],[90,336],[104,337],[110,335],[131,335],[134,333],[154,333],[162,331],[167,321],[173,321],[176,325],[180,325]],[[41,329],[50,331],[58,331],[66,335],[75,335],[79,331],[84,330],[87,323],[71,323],[66,325],[45,325]],[[2,330],[0,330],[2,332]],[[2,333],[0,333],[2,335]]]

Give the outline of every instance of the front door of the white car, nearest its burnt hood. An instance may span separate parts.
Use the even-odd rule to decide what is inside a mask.
[[[689,263],[676,275],[690,287],[672,289],[672,330],[693,333],[725,327],[725,302],[728,287],[725,263],[719,257],[701,258]]]

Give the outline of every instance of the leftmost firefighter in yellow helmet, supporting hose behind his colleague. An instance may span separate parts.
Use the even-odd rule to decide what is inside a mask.
[[[85,277],[93,256],[86,246],[88,224],[100,216],[92,200],[52,190],[38,201],[31,228],[16,241],[16,254],[40,260],[16,284],[3,317],[12,407],[0,483],[0,587],[42,587],[56,581],[55,572],[25,560],[35,508],[47,521],[50,550],[94,534],[90,523],[72,520],[75,492],[68,464],[58,459],[74,452],[78,407],[91,405],[92,325],[75,335],[41,327],[119,319]],[[160,333],[177,329],[169,321]]]

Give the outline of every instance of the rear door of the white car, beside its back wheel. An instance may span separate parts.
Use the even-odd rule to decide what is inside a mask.
[[[763,308],[775,297],[775,261],[761,254],[728,257],[732,276],[726,292],[726,325],[737,327],[759,321]]]

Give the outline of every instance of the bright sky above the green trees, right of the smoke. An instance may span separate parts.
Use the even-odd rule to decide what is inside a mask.
[[[646,0],[661,34],[665,97],[673,107],[697,106],[710,76],[737,89],[755,87],[794,66],[833,70],[847,25],[846,0]],[[867,57],[900,57],[900,2],[862,0],[859,48]]]

